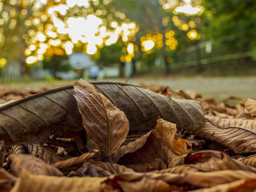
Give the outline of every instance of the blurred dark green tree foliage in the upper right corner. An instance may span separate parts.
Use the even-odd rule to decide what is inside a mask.
[[[255,49],[256,3],[254,0],[203,1],[202,33],[236,52]]]

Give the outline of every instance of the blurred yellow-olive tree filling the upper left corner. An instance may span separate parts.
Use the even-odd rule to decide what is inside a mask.
[[[59,1],[60,3],[60,1]],[[55,1],[1,1],[0,18],[0,57],[4,62],[20,68],[24,73],[26,55],[37,52],[37,56],[27,58],[27,63],[42,59],[42,50],[46,47],[36,43],[45,42],[45,30],[50,27],[49,7],[56,5]]]

